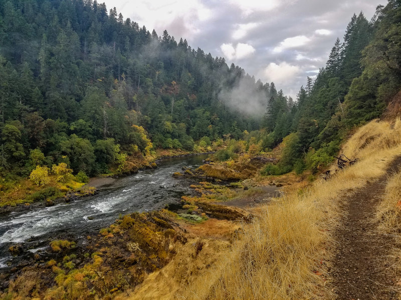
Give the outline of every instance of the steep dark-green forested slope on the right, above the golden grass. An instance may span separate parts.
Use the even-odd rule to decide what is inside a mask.
[[[266,174],[324,168],[350,129],[381,115],[401,86],[400,5],[389,0],[377,6],[370,21],[354,14],[326,66],[299,90],[296,105],[286,111],[280,97],[270,101],[263,144],[272,148],[284,138],[285,147],[278,166],[268,165]]]

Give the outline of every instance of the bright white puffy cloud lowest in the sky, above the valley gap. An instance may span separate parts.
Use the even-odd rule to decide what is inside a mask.
[[[291,83],[294,78],[301,72],[298,65],[291,65],[286,61],[280,64],[271,62],[262,71],[262,76],[268,81],[273,81],[276,84]]]

